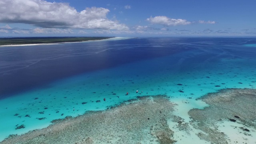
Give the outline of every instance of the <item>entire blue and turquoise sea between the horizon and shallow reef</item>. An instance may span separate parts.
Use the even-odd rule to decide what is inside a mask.
[[[174,115],[189,122],[189,110],[209,106],[197,98],[228,88],[254,89],[255,64],[255,37],[120,37],[2,46],[0,141],[139,96],[168,96],[177,104]]]

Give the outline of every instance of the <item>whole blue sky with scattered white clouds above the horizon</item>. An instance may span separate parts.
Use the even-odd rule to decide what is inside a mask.
[[[256,0],[0,0],[0,37],[256,36]]]

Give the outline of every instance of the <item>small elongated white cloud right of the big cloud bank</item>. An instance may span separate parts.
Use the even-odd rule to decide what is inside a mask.
[[[167,16],[156,16],[154,18],[150,16],[150,18],[147,18],[147,21],[152,24],[162,24],[164,26],[177,26],[177,25],[191,24],[191,22],[188,22],[187,20],[173,19],[173,18],[168,18]]]

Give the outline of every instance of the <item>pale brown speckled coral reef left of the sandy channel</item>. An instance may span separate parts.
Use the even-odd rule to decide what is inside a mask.
[[[173,116],[174,106],[165,95],[141,96],[136,102],[126,101],[105,111],[54,120],[47,128],[10,136],[0,144],[173,144],[176,140],[167,120]]]

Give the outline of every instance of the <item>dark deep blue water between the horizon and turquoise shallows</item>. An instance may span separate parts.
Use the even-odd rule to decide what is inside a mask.
[[[126,40],[0,48],[0,97],[47,86],[62,78],[131,62],[187,54],[188,70],[204,60],[254,59],[256,38],[132,38]],[[195,54],[200,56],[196,57]],[[215,57],[216,56],[216,57]],[[166,63],[173,63],[174,61]]]

